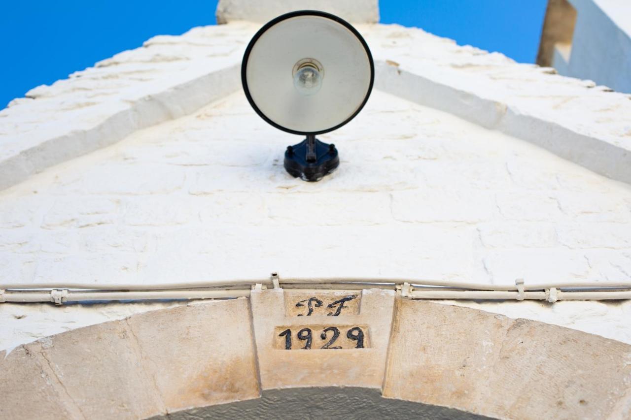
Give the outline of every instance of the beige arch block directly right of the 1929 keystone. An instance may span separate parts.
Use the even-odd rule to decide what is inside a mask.
[[[396,300],[384,397],[464,409],[478,406],[510,319],[460,309]]]

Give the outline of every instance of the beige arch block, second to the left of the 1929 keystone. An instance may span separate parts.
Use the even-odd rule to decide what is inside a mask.
[[[47,361],[84,417],[134,419],[164,412],[124,320],[76,329],[25,347]],[[12,382],[20,382],[19,377]]]

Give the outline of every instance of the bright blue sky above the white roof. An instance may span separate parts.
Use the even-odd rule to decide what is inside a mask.
[[[256,0],[252,0],[256,1]],[[380,0],[382,23],[418,26],[458,44],[536,56],[547,0]],[[216,0],[7,1],[0,6],[0,108],[30,89],[153,35],[215,24]]]

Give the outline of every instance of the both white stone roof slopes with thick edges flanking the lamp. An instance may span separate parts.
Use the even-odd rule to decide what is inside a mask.
[[[238,90],[240,58],[258,27],[154,37],[15,100],[0,112],[0,189]],[[631,182],[631,96],[416,28],[358,28],[379,61],[376,88]]]

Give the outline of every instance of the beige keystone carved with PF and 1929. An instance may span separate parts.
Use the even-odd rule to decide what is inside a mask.
[[[394,291],[304,292],[304,296],[291,292],[285,296],[283,289],[251,293],[261,388],[380,388]],[[339,302],[340,296],[355,297]],[[302,306],[297,306],[298,303]],[[357,314],[353,314],[355,305],[359,308]],[[328,311],[322,312],[320,308]],[[334,315],[338,308],[339,314]],[[314,312],[309,315],[310,309]],[[362,346],[357,339],[360,330]],[[334,339],[337,334],[338,339]]]

